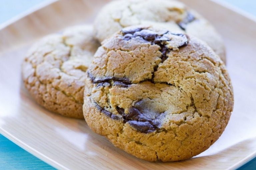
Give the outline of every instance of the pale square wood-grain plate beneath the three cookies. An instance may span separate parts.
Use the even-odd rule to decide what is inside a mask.
[[[83,120],[37,105],[21,81],[31,42],[78,23],[92,23],[107,1],[52,1],[0,26],[0,133],[58,169],[235,169],[256,156],[256,20],[211,0],[182,0],[209,19],[227,47],[235,105],[222,136],[180,162],[147,162],[114,147]]]

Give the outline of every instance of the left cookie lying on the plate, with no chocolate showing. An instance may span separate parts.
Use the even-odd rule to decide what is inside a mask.
[[[22,64],[25,87],[46,109],[83,119],[86,70],[100,44],[92,26],[75,26],[34,44]]]

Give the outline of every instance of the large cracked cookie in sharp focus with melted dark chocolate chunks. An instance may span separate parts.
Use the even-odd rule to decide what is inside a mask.
[[[185,34],[124,28],[102,42],[87,72],[88,126],[144,160],[178,161],[203,152],[233,109],[223,61]]]

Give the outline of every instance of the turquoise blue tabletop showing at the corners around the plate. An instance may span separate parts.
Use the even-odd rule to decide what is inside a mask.
[[[47,0],[0,0],[0,24]],[[256,0],[222,0],[256,16]],[[0,113],[1,114],[1,113]],[[0,134],[0,170],[54,169]],[[238,170],[256,170],[256,158]]]

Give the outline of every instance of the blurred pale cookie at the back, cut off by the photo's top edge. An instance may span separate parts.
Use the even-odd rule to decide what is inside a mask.
[[[225,47],[213,26],[197,12],[174,0],[120,0],[108,3],[94,22],[95,37],[102,42],[124,27],[147,24],[187,33],[206,43],[225,62]]]

